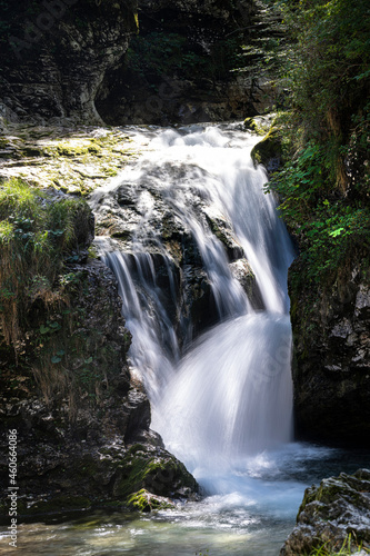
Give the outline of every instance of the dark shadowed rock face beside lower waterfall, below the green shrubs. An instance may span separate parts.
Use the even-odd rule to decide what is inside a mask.
[[[289,274],[294,341],[293,383],[300,435],[369,447],[370,286],[367,269],[348,269],[327,289],[294,282]]]

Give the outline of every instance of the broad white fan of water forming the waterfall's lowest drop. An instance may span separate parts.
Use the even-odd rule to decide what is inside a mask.
[[[181,361],[153,428],[196,475],[292,439],[290,341],[286,315],[249,314],[206,334]]]

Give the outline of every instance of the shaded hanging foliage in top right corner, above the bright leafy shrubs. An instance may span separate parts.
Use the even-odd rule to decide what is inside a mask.
[[[343,148],[354,120],[363,118],[369,85],[369,7],[357,0],[302,0],[299,6],[281,0],[279,4],[292,41],[283,85],[291,91],[291,126],[301,129],[301,142],[293,141],[293,150],[312,140],[324,145],[322,162],[344,191],[349,179]]]

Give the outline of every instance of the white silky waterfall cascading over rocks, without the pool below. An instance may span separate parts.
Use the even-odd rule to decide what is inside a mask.
[[[139,215],[131,239],[124,252],[103,256],[118,278],[132,332],[130,364],[149,393],[152,428],[189,470],[238,467],[291,439],[287,272],[293,248],[273,196],[263,192],[266,172],[253,167],[250,135],[236,125],[150,135],[133,175],[120,178],[129,181],[129,202]],[[113,191],[97,190],[96,212]],[[181,312],[177,286],[191,269],[179,270],[171,260],[153,225],[162,218],[158,203],[192,237],[210,284],[217,322],[200,338],[193,339],[191,319]],[[209,215],[229,222],[254,274],[259,310],[232,274]]]

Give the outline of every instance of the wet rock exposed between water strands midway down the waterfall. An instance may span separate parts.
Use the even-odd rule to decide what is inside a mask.
[[[184,169],[167,165],[169,182],[183,178]],[[161,288],[161,305],[177,334],[179,345],[196,338],[219,321],[213,288],[207,264],[198,242],[177,203],[169,201],[161,188],[159,168],[148,167],[138,182],[122,182],[110,195],[97,191],[92,196],[99,236],[110,237],[108,250],[121,250],[138,291],[142,288],[142,268],[148,257]],[[172,191],[171,196],[176,192]],[[170,196],[170,199],[171,199]],[[179,197],[181,198],[181,197]],[[143,222],[143,200],[151,206]],[[194,187],[187,188],[187,206],[194,220],[221,242],[231,275],[240,282],[257,309],[262,308],[261,295],[244,251],[234,237],[228,219]],[[108,240],[109,242],[109,240]],[[138,250],[138,245],[140,249]],[[140,254],[139,251],[142,251]],[[143,255],[144,254],[144,255]],[[138,261],[141,269],[138,268]],[[149,271],[147,272],[149,274]]]

